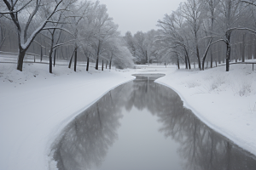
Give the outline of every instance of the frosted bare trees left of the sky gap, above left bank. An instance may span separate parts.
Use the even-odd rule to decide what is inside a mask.
[[[27,53],[49,60],[53,72],[56,59],[77,62],[108,62],[126,68],[132,56],[120,37],[118,26],[106,5],[90,0],[3,0],[0,3],[0,51],[17,53],[17,70],[22,71]],[[113,50],[115,44],[115,50]],[[112,62],[113,61],[113,62]],[[107,64],[107,63],[106,63]],[[103,67],[102,67],[103,69]]]

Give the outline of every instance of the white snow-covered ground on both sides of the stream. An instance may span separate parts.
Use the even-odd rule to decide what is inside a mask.
[[[209,127],[256,155],[256,71],[251,65],[206,71],[146,65],[124,71],[74,72],[57,65],[0,63],[0,169],[46,170],[55,165],[49,147],[74,116],[136,73],[164,73],[156,82],[174,89]]]

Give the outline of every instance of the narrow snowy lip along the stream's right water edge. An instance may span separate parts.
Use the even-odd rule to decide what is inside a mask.
[[[176,88],[173,88],[172,86],[170,86],[164,82],[160,82],[159,79],[156,80],[155,82],[157,82],[161,85],[164,85],[168,88],[172,88],[172,90],[175,91],[179,95],[179,97],[183,100],[183,106],[186,107],[187,109],[193,111],[195,116],[197,116],[201,120],[201,122],[204,122],[208,127],[212,128],[212,130],[223,135],[225,138],[229,139],[231,142],[238,145],[241,149],[246,150],[250,154],[253,154],[253,157],[256,158],[256,148],[253,147],[253,145],[246,144],[247,142],[245,140],[236,138],[234,134],[225,131],[224,129],[218,127],[217,125],[212,124],[212,122],[209,121],[205,116],[203,116],[203,114],[201,114],[199,111],[197,111],[192,105],[189,105],[189,102],[184,98],[183,94],[181,92],[179,92]]]

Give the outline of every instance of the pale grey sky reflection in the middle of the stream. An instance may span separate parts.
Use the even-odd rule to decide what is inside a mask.
[[[148,114],[146,109],[138,111],[132,108],[130,112],[122,112],[119,140],[109,149],[99,170],[181,169],[176,154],[178,144],[158,132],[157,116]]]

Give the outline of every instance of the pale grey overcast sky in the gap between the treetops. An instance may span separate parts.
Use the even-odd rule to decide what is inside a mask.
[[[114,23],[119,25],[119,31],[125,35],[126,31],[132,34],[137,31],[158,29],[157,20],[164,14],[171,14],[179,3],[184,0],[100,0],[106,4],[108,14]]]

